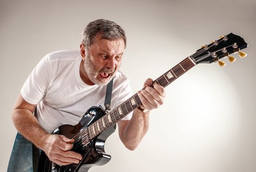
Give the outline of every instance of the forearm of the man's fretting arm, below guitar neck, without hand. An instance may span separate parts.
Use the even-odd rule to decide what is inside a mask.
[[[134,150],[145,136],[148,128],[149,112],[143,113],[136,109],[133,111],[132,117],[120,138],[128,149]]]

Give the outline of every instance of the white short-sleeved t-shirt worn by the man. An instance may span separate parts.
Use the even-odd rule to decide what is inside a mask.
[[[37,105],[39,124],[49,133],[63,124],[76,125],[92,106],[104,107],[107,86],[89,86],[80,78],[80,51],[58,51],[46,55],[21,89],[23,98]],[[132,96],[128,78],[118,71],[114,77],[111,107]],[[131,113],[122,120],[131,118]]]

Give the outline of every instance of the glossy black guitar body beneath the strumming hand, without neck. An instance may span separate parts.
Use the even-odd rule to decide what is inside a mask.
[[[105,113],[99,107],[91,107],[81,118],[77,125],[61,125],[51,134],[64,135],[67,138],[74,138],[80,133],[83,127],[89,127],[95,121],[100,119]],[[92,166],[102,166],[106,164],[111,156],[105,154],[104,143],[109,135],[115,131],[116,125],[112,125],[98,135],[89,144],[83,147],[81,139],[74,143],[72,151],[80,153],[83,158],[79,164],[70,164],[67,166],[59,166],[51,162],[45,152],[41,152],[38,172],[88,172]],[[79,140],[79,138],[78,138]]]

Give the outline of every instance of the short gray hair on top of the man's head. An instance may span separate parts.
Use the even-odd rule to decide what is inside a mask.
[[[117,40],[123,38],[126,47],[126,32],[115,22],[105,19],[90,22],[81,34],[81,43],[87,49],[93,43],[96,35],[100,34],[101,39]]]

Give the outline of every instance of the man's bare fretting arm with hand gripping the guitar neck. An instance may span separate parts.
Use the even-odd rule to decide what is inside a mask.
[[[152,83],[152,79],[147,79],[144,89],[138,92],[143,109],[153,110],[163,104],[164,87],[158,84],[151,87]],[[150,111],[143,113],[139,109],[135,109],[130,120],[118,122],[120,140],[129,150],[134,150],[145,136],[149,128],[149,114]]]

